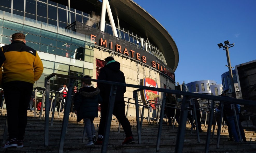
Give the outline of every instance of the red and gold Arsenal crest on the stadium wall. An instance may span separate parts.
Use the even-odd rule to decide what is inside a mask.
[[[146,86],[146,87],[155,87],[157,88],[157,83],[155,82],[155,80],[153,80],[152,78],[143,78],[143,86]],[[145,101],[149,101],[151,102],[151,107],[153,109],[155,109],[155,104],[153,103],[156,103],[157,104],[157,101],[159,99],[159,94],[158,94],[158,91],[152,91],[152,90],[143,90],[143,95],[144,95],[144,99]]]

